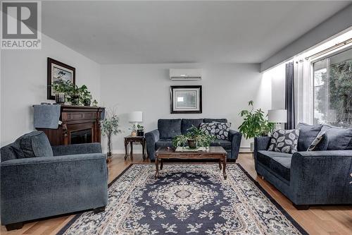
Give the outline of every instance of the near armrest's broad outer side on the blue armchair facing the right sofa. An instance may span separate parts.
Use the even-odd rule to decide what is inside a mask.
[[[0,164],[1,224],[103,207],[108,176],[103,154],[12,159]]]

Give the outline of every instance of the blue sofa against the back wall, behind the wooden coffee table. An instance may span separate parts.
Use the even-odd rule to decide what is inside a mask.
[[[145,134],[146,152],[149,159],[155,159],[155,152],[159,147],[172,147],[172,138],[176,135],[186,134],[191,126],[199,127],[201,123],[213,121],[227,122],[227,119],[159,119],[158,129]],[[212,146],[222,146],[227,152],[227,159],[236,161],[241,145],[242,134],[230,130],[229,140],[215,140]]]

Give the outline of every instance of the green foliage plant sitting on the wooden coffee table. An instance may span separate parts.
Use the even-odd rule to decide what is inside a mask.
[[[172,145],[174,147],[186,147],[187,145],[190,149],[209,147],[210,143],[215,140],[215,135],[210,135],[207,131],[196,126],[192,126],[187,131],[187,134],[177,135],[173,138]]]

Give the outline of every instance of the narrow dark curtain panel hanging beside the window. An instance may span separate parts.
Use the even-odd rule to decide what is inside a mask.
[[[286,64],[285,80],[285,109],[287,109],[287,123],[285,129],[294,129],[294,62]]]

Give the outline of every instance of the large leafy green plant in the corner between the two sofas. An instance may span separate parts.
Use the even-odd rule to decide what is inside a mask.
[[[239,131],[244,135],[244,138],[254,138],[257,136],[269,135],[275,126],[275,123],[269,122],[265,119],[263,110],[253,107],[253,100],[248,102],[250,110],[242,110],[239,116],[244,118],[243,123],[239,126]],[[267,115],[268,116],[268,115]],[[254,150],[254,143],[251,143],[251,152]]]

